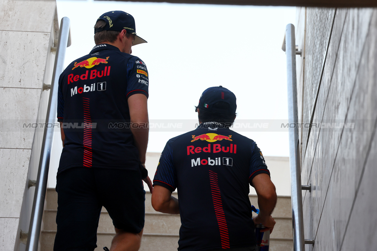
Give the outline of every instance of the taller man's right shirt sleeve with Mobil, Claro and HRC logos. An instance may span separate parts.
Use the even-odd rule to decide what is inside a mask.
[[[133,57],[127,63],[127,99],[136,93],[149,96],[149,74],[147,65],[138,57]]]

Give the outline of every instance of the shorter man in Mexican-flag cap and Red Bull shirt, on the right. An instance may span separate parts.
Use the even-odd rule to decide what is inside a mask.
[[[182,251],[256,250],[254,224],[272,232],[275,186],[256,143],[229,127],[236,118],[236,96],[210,87],[196,106],[200,125],[170,139],[153,179],[156,211],[181,214]],[[260,212],[251,217],[249,184]],[[178,199],[172,192],[178,190]]]

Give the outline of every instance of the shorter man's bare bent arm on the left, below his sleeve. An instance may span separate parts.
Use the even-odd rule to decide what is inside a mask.
[[[152,207],[161,213],[179,214],[178,199],[163,186],[155,185],[153,188]]]

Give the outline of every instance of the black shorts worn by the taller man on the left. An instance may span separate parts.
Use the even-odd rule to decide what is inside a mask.
[[[54,251],[94,250],[102,206],[116,228],[143,230],[145,191],[139,170],[72,167],[59,173],[56,191]]]

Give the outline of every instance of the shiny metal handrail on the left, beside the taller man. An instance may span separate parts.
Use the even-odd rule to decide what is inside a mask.
[[[46,125],[48,125],[48,123],[50,123],[51,121],[56,121],[58,104],[58,81],[60,74],[63,72],[66,48],[67,45],[70,44],[68,39],[69,26],[69,18],[63,17],[60,22],[58,45],[55,56],[54,71],[52,73],[51,91],[46,115]],[[44,197],[46,196],[48,169],[50,166],[50,156],[53,139],[54,126],[52,126],[52,128],[48,128],[48,126],[45,126],[37,174],[37,185],[35,186],[34,201],[31,211],[28,241],[26,243],[26,251],[36,251],[38,248],[38,240],[41,231]]]

